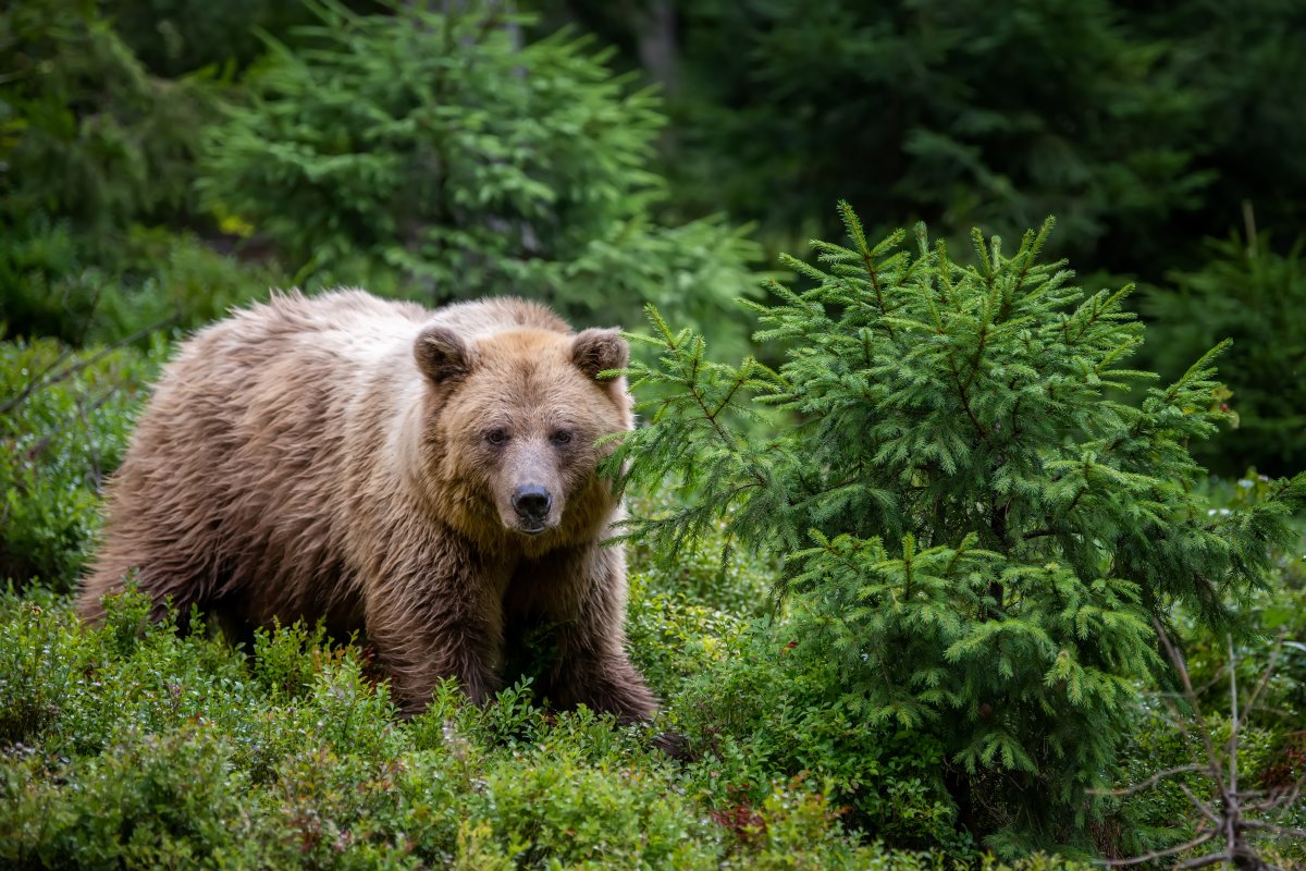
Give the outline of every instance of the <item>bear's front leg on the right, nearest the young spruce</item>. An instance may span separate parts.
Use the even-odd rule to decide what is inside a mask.
[[[620,547],[597,545],[542,560],[541,602],[558,627],[558,659],[549,689],[562,706],[584,704],[622,722],[648,720],[657,699],[626,653],[626,558]]]

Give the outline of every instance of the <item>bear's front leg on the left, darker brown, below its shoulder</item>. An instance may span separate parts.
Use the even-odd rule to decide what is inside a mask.
[[[421,563],[367,588],[367,637],[394,701],[414,716],[441,679],[457,678],[471,701],[485,704],[500,684],[502,584],[448,554]]]

